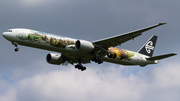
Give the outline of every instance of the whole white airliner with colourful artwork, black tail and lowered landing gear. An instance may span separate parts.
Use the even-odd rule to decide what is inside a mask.
[[[59,52],[61,54],[47,54],[46,61],[54,65],[75,64],[75,68],[81,71],[86,70],[86,67],[82,64],[91,62],[101,64],[103,61],[120,65],[139,65],[144,67],[149,64],[158,64],[159,60],[177,54],[170,53],[152,56],[157,40],[157,36],[155,35],[138,52],[115,47],[118,45],[121,46],[121,44],[129,40],[134,40],[136,37],[142,35],[143,32],[164,24],[166,23],[155,24],[92,42],[24,28],[8,29],[2,36],[12,42],[16,47],[15,52],[19,51],[18,45]]]

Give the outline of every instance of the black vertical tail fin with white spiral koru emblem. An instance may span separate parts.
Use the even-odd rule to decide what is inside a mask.
[[[156,45],[157,36],[153,35],[138,51],[138,53],[152,57],[155,45]]]

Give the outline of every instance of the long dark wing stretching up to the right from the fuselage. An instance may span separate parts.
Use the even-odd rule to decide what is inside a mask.
[[[136,30],[136,31],[132,31],[132,32],[121,34],[121,35],[117,35],[117,36],[113,36],[113,37],[93,41],[93,44],[95,46],[101,47],[101,48],[115,47],[117,45],[121,45],[122,43],[124,43],[126,41],[134,39],[135,37],[140,36],[145,31],[148,31],[150,29],[153,29],[155,27],[158,27],[158,26],[164,25],[164,24],[166,24],[166,23],[159,23],[159,24],[156,24],[156,25],[153,25],[153,26],[149,26],[149,27],[146,27],[146,28]]]

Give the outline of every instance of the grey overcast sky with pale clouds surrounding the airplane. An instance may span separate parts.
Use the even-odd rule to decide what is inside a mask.
[[[152,36],[154,55],[180,52],[179,0],[1,0],[0,32],[29,28],[94,41],[167,22],[118,48],[138,51]],[[0,101],[180,101],[179,55],[145,68],[111,63],[46,62],[50,51],[14,46],[0,36]]]

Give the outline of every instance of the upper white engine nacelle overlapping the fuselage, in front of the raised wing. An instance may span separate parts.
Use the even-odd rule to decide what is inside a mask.
[[[76,50],[81,50],[86,53],[91,52],[95,47],[92,42],[85,41],[85,40],[77,40],[75,43]]]

